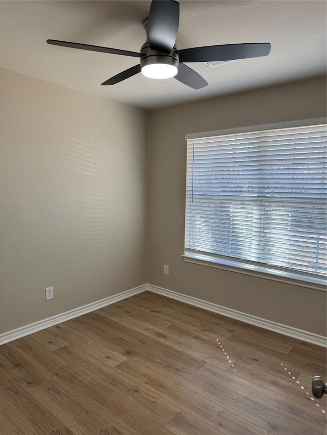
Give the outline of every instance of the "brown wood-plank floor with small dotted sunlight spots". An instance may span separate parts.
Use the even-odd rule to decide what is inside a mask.
[[[326,433],[326,349],[149,292],[0,355],[2,435]]]

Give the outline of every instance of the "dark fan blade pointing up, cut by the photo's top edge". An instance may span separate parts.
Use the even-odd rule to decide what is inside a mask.
[[[174,0],[153,0],[148,24],[150,48],[170,53],[176,41],[178,24],[178,2]]]

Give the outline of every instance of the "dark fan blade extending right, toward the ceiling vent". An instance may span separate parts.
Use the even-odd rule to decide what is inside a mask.
[[[267,56],[269,43],[211,45],[178,50],[180,62],[214,62]]]

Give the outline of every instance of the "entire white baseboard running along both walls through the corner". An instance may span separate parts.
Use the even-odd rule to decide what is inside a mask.
[[[272,322],[266,319],[261,319],[260,317],[255,317],[251,316],[250,314],[242,313],[240,311],[231,310],[230,308],[217,305],[216,303],[207,302],[202,299],[197,299],[192,296],[173,292],[172,290],[164,289],[162,287],[157,287],[150,284],[144,284],[143,286],[138,286],[134,289],[126,290],[125,292],[109,296],[105,299],[88,303],[87,305],[80,306],[79,308],[76,308],[74,310],[66,311],[65,313],[58,314],[57,316],[48,317],[47,319],[31,323],[30,325],[22,326],[12,331],[5,332],[4,334],[0,334],[0,345],[16,340],[20,337],[33,334],[33,332],[37,332],[41,329],[49,328],[50,326],[65,322],[66,320],[74,319],[74,317],[82,316],[83,314],[90,313],[91,311],[99,310],[100,308],[110,305],[111,303],[119,302],[122,299],[137,295],[138,293],[142,293],[146,290],[148,290],[149,292],[158,293],[162,296],[167,296],[169,298],[179,300],[181,302],[188,303],[190,305],[197,306],[198,308],[203,308],[204,310],[221,314],[222,316],[231,317],[232,319],[241,320],[242,322],[250,323],[251,325],[259,326],[264,329],[269,329],[270,331],[279,332],[279,334],[284,334],[298,340],[303,340],[309,343],[316,344],[318,346],[327,347],[326,337],[313,334],[312,332],[303,331],[302,329],[293,328],[292,326],[283,325],[281,323]]]

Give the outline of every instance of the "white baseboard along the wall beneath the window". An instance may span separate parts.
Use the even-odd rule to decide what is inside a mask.
[[[173,292],[172,290],[163,289],[161,287],[152,286],[148,284],[146,290],[153,293],[158,293],[162,296],[167,296],[181,302],[189,303],[190,305],[203,308],[204,310],[212,311],[221,314],[222,316],[231,317],[232,319],[241,320],[251,325],[259,326],[270,331],[279,332],[289,337],[298,340],[307,341],[318,346],[327,347],[327,339],[324,336],[313,334],[312,332],[303,331],[302,329],[293,328],[292,326],[283,325],[281,323],[272,322],[271,320],[261,319],[260,317],[251,316],[250,314],[242,313],[240,311],[231,310],[225,306],[217,305],[216,303],[207,302],[205,300],[197,299],[192,296],[183,295],[182,293]]]

